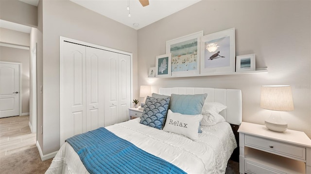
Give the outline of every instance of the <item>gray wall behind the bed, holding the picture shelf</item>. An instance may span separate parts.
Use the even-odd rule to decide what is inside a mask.
[[[269,73],[148,79],[166,41],[200,30],[235,28],[236,55],[256,54]],[[282,113],[288,128],[311,137],[311,1],[203,0],[138,30],[138,86],[242,89],[242,120],[264,124],[270,111],[259,107],[260,86],[291,85],[295,110]]]

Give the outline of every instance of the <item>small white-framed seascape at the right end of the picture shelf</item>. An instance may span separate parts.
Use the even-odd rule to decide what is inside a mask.
[[[255,71],[255,54],[237,56],[236,72]]]

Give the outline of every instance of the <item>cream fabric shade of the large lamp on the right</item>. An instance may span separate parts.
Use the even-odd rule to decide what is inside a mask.
[[[262,86],[260,107],[275,111],[294,111],[291,86]]]

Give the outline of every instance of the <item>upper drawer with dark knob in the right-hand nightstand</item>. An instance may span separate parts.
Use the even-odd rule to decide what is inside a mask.
[[[306,148],[245,135],[245,146],[292,159],[306,160]]]

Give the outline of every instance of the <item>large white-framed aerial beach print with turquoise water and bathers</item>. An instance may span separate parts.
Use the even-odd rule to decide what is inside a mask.
[[[166,54],[172,54],[172,76],[199,74],[200,40],[203,30],[166,41]]]

